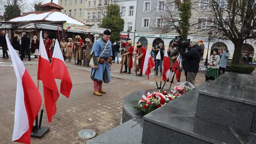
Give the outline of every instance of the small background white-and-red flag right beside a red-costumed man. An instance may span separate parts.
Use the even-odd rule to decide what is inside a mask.
[[[147,75],[147,79],[149,79],[149,74],[151,73],[150,69],[155,66],[154,60],[151,57],[149,50],[146,50],[146,55],[145,55],[145,61],[143,65],[143,71],[142,74]]]

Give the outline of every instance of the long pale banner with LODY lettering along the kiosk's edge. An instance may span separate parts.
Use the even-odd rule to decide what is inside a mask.
[[[106,30],[106,28],[90,27],[90,26],[76,25],[76,24],[70,24],[70,23],[64,23],[63,29],[83,31],[86,33],[97,33],[97,34],[103,34],[103,32]]]

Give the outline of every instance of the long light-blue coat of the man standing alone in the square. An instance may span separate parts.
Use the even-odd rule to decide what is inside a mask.
[[[102,51],[105,48],[105,42],[101,38],[99,38],[94,42],[92,46],[91,54],[94,52],[95,56],[100,57],[101,55],[101,58],[105,60],[108,59],[108,57],[112,56],[112,46],[110,41],[108,41],[107,44],[108,45],[106,47],[106,50],[101,55]],[[104,71],[106,70],[108,74],[108,81],[110,81],[110,64],[106,63],[105,61],[104,63],[99,63],[98,66],[99,67],[97,70],[95,70],[94,68],[91,68],[91,76],[96,71],[94,75],[94,79],[97,79],[98,81],[103,81],[103,74],[104,74]]]

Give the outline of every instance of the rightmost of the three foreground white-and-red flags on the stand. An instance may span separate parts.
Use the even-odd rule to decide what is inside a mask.
[[[52,72],[55,79],[61,80],[60,92],[65,96],[69,97],[72,89],[72,81],[65,65],[63,55],[61,53],[60,45],[58,40],[55,42],[54,54],[51,63]]]

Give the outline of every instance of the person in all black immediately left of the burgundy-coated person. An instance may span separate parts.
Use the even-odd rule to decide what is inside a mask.
[[[26,51],[26,54],[28,56],[28,61],[31,60],[30,58],[30,39],[29,37],[27,36],[26,32],[23,32],[22,34],[22,37],[21,37],[21,54],[24,54],[24,52]],[[23,57],[24,56],[21,56],[21,61],[23,61]]]

